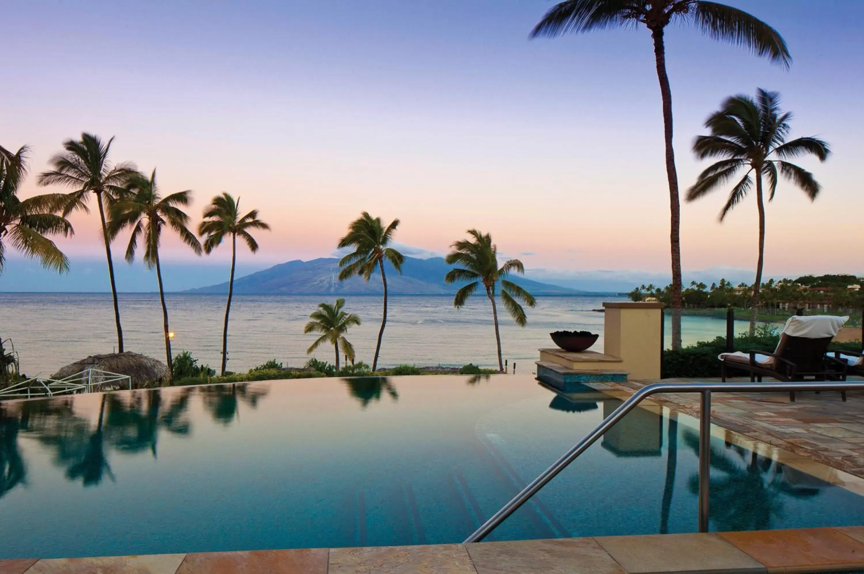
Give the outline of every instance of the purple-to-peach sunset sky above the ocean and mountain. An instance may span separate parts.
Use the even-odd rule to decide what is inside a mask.
[[[864,3],[727,2],[777,28],[793,64],[668,29],[682,190],[707,166],[690,146],[723,98],[780,91],[794,113],[791,136],[823,137],[834,154],[800,161],[823,184],[815,203],[783,183],[768,206],[766,274],[864,273],[864,258],[851,255],[864,244]],[[213,195],[239,196],[273,227],[258,234],[256,255],[240,253],[245,269],[330,255],[346,225],[370,211],[399,218],[397,241],[429,253],[446,252],[468,228],[489,231],[537,276],[668,274],[651,37],[640,28],[530,41],[551,5],[4,3],[0,145],[32,147],[24,196],[43,191],[35,173],[82,131],[114,136],[115,161],[156,167],[162,192],[193,190],[196,223]],[[755,267],[755,201],[721,224],[724,198],[683,204],[685,270]],[[38,274],[43,286],[63,290],[105,265],[95,210],[73,224],[75,237],[59,242],[73,274]],[[202,281],[230,255],[223,247],[199,259],[170,238],[162,251],[170,273],[196,265]],[[20,287],[9,276],[25,268],[10,262],[0,290]]]

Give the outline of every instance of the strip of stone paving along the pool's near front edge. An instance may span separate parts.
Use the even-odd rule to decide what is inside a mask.
[[[0,560],[0,574],[759,574],[864,570],[864,527]]]

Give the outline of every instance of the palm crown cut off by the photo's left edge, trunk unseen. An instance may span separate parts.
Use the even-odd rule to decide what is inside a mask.
[[[39,259],[42,267],[65,273],[69,270],[66,255],[45,236],[74,234],[72,224],[56,214],[67,204],[67,198],[62,193],[46,193],[28,199],[18,197],[18,188],[27,175],[28,152],[27,146],[14,154],[0,148],[0,274],[6,261],[7,244],[23,255]]]

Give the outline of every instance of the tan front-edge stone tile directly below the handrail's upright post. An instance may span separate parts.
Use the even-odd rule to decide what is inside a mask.
[[[595,538],[627,572],[764,573],[765,566],[715,534],[653,534]]]

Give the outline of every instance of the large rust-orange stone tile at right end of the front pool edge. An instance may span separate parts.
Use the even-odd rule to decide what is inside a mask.
[[[769,572],[816,572],[864,568],[864,544],[831,528],[720,533]]]

